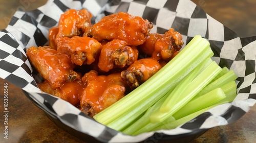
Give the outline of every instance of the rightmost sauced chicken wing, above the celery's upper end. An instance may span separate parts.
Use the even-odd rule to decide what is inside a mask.
[[[139,50],[156,60],[169,61],[175,52],[180,51],[183,44],[181,34],[171,28],[164,34],[150,34],[150,37],[139,46]]]

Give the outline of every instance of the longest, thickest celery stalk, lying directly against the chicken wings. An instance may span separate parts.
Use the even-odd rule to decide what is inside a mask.
[[[119,123],[129,125],[161,99],[191,70],[207,57],[213,56],[209,42],[195,36],[181,52],[162,67],[154,76],[127,94],[125,97],[94,116],[101,124],[107,125],[120,118]]]

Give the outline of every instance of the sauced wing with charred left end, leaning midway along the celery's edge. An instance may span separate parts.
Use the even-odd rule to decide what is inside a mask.
[[[160,68],[161,65],[153,58],[139,59],[121,72],[121,78],[131,89],[135,89],[156,74]]]

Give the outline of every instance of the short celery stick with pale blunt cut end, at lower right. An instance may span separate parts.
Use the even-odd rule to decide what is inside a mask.
[[[176,118],[176,120],[179,120],[184,116],[187,116],[191,113],[197,112],[211,105],[214,105],[215,103],[224,99],[225,97],[226,96],[222,88],[216,88],[204,94],[203,96],[197,98],[196,100],[188,102],[179,111],[174,113],[173,117]]]

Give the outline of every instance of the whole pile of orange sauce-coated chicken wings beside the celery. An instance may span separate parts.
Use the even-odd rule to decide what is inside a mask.
[[[94,116],[152,77],[183,41],[172,28],[150,33],[152,22],[129,13],[105,16],[94,25],[91,18],[86,9],[67,10],[49,30],[49,44],[32,46],[26,54],[44,78],[37,83],[42,91]]]

